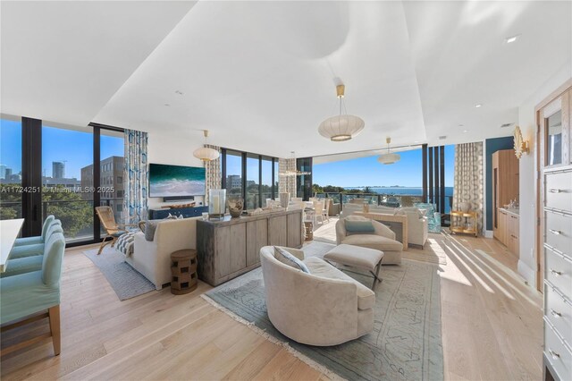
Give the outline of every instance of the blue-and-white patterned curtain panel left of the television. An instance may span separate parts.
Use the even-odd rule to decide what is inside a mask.
[[[123,216],[126,224],[147,219],[147,132],[125,130],[125,194]]]

